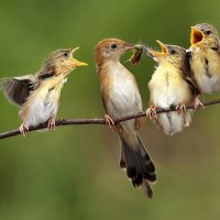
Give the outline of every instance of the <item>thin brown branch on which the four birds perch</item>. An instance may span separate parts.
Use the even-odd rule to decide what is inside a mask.
[[[204,103],[205,107],[207,106],[212,106],[212,105],[217,105],[220,103],[220,99],[216,99],[212,101],[207,101]],[[186,109],[194,109],[194,105],[189,105],[186,107]],[[158,109],[156,111],[156,113],[163,113],[163,112],[169,112],[169,111],[175,111],[175,108],[170,108],[170,109]],[[130,119],[135,119],[135,118],[141,118],[141,117],[146,117],[146,112],[139,112],[135,114],[131,114],[131,116],[125,116],[122,117],[121,119],[117,119],[113,120],[114,124],[122,122],[122,121],[127,121]],[[63,125],[70,125],[70,124],[106,124],[105,119],[73,119],[73,120],[66,120],[66,119],[61,119],[56,121],[56,127],[63,127]],[[32,131],[36,131],[36,130],[41,130],[41,129],[46,129],[47,128],[47,122],[40,124],[37,127],[30,127],[29,128],[29,132]],[[16,130],[11,130],[11,131],[6,131],[3,133],[0,133],[0,139],[7,139],[10,136],[15,136],[21,134],[21,132],[19,131],[19,129]]]

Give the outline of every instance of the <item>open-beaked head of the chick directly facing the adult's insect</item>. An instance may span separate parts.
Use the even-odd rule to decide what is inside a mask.
[[[158,64],[170,64],[177,68],[183,68],[187,62],[186,50],[170,44],[156,41],[161,46],[161,52],[148,50],[150,56]]]

